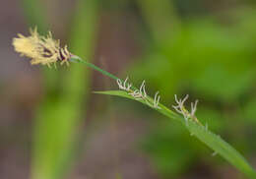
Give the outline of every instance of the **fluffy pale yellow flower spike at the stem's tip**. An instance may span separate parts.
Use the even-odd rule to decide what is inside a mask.
[[[13,39],[15,51],[31,58],[32,65],[42,64],[51,67],[51,64],[54,64],[56,67],[56,62],[69,65],[72,54],[68,51],[67,45],[61,48],[60,41],[53,39],[50,31],[46,36],[39,35],[36,28],[30,32],[30,36],[18,33],[18,37]]]

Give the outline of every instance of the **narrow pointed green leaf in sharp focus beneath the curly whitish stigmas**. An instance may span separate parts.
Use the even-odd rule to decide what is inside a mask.
[[[99,94],[108,94],[108,95],[116,95],[121,97],[130,98],[136,100],[133,96],[129,95],[126,91],[122,90],[108,90],[108,91],[96,91],[95,93]],[[151,98],[151,100],[153,100]],[[148,105],[143,100],[138,100],[146,105]],[[255,170],[250,166],[248,161],[236,150],[233,149],[229,144],[224,142],[224,140],[211,132],[205,126],[201,126],[192,120],[188,120],[185,122],[182,116],[177,115],[173,111],[169,110],[164,105],[160,104],[160,109],[154,108],[159,111],[161,114],[165,115],[170,119],[178,120],[184,125],[190,134],[196,137],[201,142],[205,143],[210,149],[213,149],[215,153],[220,154],[224,157],[229,163],[235,166],[242,173],[247,175],[249,178],[256,178]]]

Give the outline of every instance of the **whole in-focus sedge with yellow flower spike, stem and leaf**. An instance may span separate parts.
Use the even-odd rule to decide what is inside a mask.
[[[140,88],[134,87],[128,82],[128,78],[120,80],[118,77],[100,69],[93,63],[83,60],[79,56],[72,54],[67,46],[62,48],[59,40],[52,38],[49,32],[46,37],[38,34],[37,30],[31,30],[30,36],[18,34],[18,37],[13,39],[15,50],[23,56],[31,58],[31,64],[41,64],[56,68],[56,64],[69,66],[71,62],[84,64],[104,76],[109,77],[117,83],[119,89],[108,91],[96,91],[100,94],[117,95],[120,97],[137,100],[160,112],[167,118],[177,120],[191,134],[191,137],[196,137],[198,140],[214,150],[214,154],[220,154],[226,161],[236,167],[240,172],[244,173],[248,178],[256,178],[255,169],[236,149],[232,148],[228,143],[224,142],[221,136],[214,134],[208,129],[208,125],[202,124],[196,117],[197,103],[191,103],[191,110],[185,107],[185,101],[188,98],[186,95],[183,99],[179,99],[176,95],[176,105],[172,105],[174,110],[167,108],[160,103],[159,91],[154,97],[147,94],[146,83],[143,81]]]

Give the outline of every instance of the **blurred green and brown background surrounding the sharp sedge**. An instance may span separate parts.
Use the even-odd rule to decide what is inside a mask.
[[[0,7],[0,178],[241,179],[182,126],[93,94],[116,83],[81,64],[31,66],[41,33],[148,93],[199,99],[198,118],[256,168],[256,4],[250,0],[20,0]],[[189,107],[189,106],[188,106]]]

